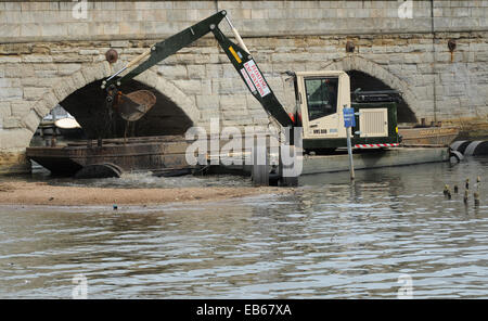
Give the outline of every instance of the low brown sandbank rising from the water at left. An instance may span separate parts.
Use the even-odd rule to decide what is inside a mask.
[[[291,191],[282,188],[174,188],[174,189],[106,189],[54,187],[44,182],[0,183],[0,204],[23,205],[112,205],[163,204],[187,201],[216,201]]]

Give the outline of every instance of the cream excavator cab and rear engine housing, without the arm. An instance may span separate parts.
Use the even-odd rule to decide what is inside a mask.
[[[391,146],[399,142],[397,131],[398,92],[350,92],[344,70],[297,72],[294,76],[297,126],[303,127],[304,149],[330,153],[346,145],[345,107],[355,108],[351,128],[356,146]],[[354,100],[354,101],[351,101]],[[374,144],[373,144],[374,143]]]

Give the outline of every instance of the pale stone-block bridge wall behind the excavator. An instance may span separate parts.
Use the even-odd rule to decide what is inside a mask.
[[[0,172],[25,169],[25,147],[57,104],[100,136],[101,79],[222,9],[284,105],[294,103],[283,72],[344,69],[351,89],[400,90],[399,121],[487,121],[488,1],[0,2]],[[126,87],[140,88],[158,98],[152,120],[132,129],[140,136],[182,133],[211,117],[269,124],[211,36]]]

